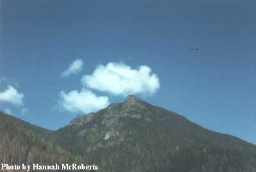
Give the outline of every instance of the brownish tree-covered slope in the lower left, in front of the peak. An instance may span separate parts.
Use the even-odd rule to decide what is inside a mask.
[[[0,112],[0,164],[81,162],[50,142],[54,132]]]

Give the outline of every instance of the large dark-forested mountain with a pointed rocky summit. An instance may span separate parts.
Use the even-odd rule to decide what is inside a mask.
[[[16,120],[13,118],[10,123]],[[5,122],[0,126],[2,123]],[[97,164],[98,171],[256,171],[255,145],[207,130],[134,95],[97,113],[78,116],[56,131],[29,126],[22,127],[22,132],[31,131],[30,137],[39,136],[54,151],[64,152],[64,157],[73,155],[74,158],[66,159],[66,162]],[[13,126],[8,130],[12,130],[15,136],[19,128]],[[33,132],[34,128],[36,132]],[[5,127],[0,129],[1,132],[6,130]],[[23,139],[18,137],[17,140]],[[4,148],[0,142],[0,152]],[[44,150],[39,148],[39,152]],[[63,163],[62,155],[56,159]]]

